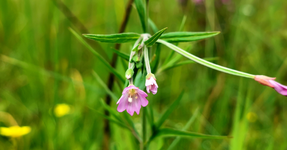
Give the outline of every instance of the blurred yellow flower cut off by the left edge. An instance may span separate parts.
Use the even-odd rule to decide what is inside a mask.
[[[7,137],[21,137],[31,132],[31,127],[28,126],[12,126],[12,127],[0,127],[0,135]]]

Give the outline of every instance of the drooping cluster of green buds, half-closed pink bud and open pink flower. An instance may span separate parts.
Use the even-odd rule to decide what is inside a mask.
[[[148,48],[144,45],[144,41],[148,39],[148,35],[142,35],[134,44],[133,50],[131,51],[130,59],[129,59],[129,68],[125,73],[125,77],[129,80],[129,86],[127,86],[123,90],[123,95],[118,100],[117,110],[119,112],[123,112],[127,110],[127,112],[133,116],[134,112],[139,115],[139,110],[141,106],[145,107],[148,105],[148,100],[146,97],[148,94],[143,90],[140,90],[138,87],[133,85],[133,75],[134,75],[134,68],[137,69],[141,68],[142,70],[146,70],[146,90],[148,93],[150,91],[152,94],[156,94],[158,90],[158,84],[156,84],[156,78],[154,74],[151,73],[150,69],[150,61],[148,58]],[[141,43],[140,43],[141,42]],[[139,44],[140,43],[140,44]],[[145,65],[142,64],[144,60]],[[146,68],[144,68],[145,66]]]

